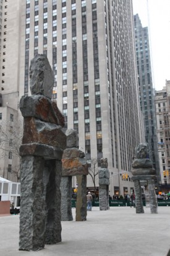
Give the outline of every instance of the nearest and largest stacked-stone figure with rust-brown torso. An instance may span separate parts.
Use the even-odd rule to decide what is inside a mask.
[[[61,241],[61,173],[64,117],[51,101],[54,75],[45,55],[30,64],[32,96],[22,96],[19,250],[40,250]]]

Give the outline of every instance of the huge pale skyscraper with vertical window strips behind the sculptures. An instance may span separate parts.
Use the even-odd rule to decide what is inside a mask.
[[[14,5],[18,12],[12,15]],[[65,129],[77,130],[88,162],[108,158],[111,194],[131,193],[132,158],[144,140],[132,1],[8,0],[8,19],[6,53],[7,48],[14,50],[14,24],[19,51],[12,54],[18,65],[8,59],[6,68],[12,66],[11,74],[17,74],[19,98],[30,95],[30,60],[45,53],[53,67],[53,99],[65,116]],[[3,95],[13,85],[7,79],[5,74]],[[91,178],[88,187],[93,187]]]

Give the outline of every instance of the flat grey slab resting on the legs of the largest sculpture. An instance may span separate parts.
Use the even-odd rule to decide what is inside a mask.
[[[20,156],[36,155],[45,159],[61,160],[62,153],[62,149],[38,143],[22,144],[20,146]]]

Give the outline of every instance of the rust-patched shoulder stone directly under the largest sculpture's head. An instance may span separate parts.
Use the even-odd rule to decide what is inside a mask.
[[[59,111],[56,102],[43,95],[22,96],[20,111],[23,117],[35,117],[41,121],[64,127],[64,116]]]

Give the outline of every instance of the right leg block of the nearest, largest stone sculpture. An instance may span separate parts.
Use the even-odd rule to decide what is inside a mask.
[[[62,163],[59,160],[46,160],[46,171],[49,180],[46,185],[46,232],[45,243],[61,242],[61,172]]]

